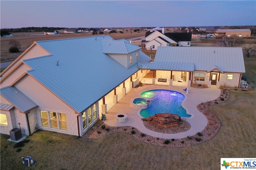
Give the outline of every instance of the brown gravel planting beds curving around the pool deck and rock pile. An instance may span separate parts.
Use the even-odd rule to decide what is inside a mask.
[[[138,129],[134,127],[111,127],[104,124],[103,121],[99,120],[91,129],[88,130],[88,132],[83,137],[86,137],[88,139],[98,139],[112,133],[126,132],[142,142],[151,145],[172,148],[187,147],[206,142],[212,139],[218,133],[221,126],[218,117],[214,113],[209,111],[208,107],[215,104],[223,103],[229,98],[228,90],[220,90],[220,96],[216,100],[201,103],[197,106],[198,110],[202,112],[208,119],[208,125],[203,131],[198,132],[196,135],[188,136],[182,139],[161,139],[141,133]],[[160,133],[181,133],[187,131],[191,127],[190,124],[184,119],[180,122],[180,125],[178,125],[178,127],[160,128],[157,125],[152,124],[150,121],[144,121],[144,125],[146,128]]]

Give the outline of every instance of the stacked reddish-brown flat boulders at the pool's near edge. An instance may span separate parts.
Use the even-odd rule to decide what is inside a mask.
[[[172,113],[156,113],[154,116],[142,118],[143,121],[152,121],[159,127],[177,127],[180,122],[180,117]]]

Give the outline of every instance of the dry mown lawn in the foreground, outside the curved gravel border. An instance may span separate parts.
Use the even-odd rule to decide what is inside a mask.
[[[247,82],[255,88],[256,56],[244,58]],[[1,135],[1,170],[28,169],[22,156],[32,156],[36,170],[216,170],[220,158],[256,157],[256,90],[230,90],[230,98],[210,110],[220,119],[219,133],[210,141],[184,148],[158,147],[128,133],[100,139],[38,131],[22,143]]]

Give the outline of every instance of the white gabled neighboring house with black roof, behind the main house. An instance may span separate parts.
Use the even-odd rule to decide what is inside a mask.
[[[157,50],[166,46],[190,46],[192,33],[164,33],[162,31],[147,31],[145,35],[146,49]]]

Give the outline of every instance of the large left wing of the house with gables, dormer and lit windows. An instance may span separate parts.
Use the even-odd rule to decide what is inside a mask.
[[[1,73],[1,133],[84,135],[113,104],[104,97],[125,95],[152,60],[140,49],[108,35],[34,42]]]

